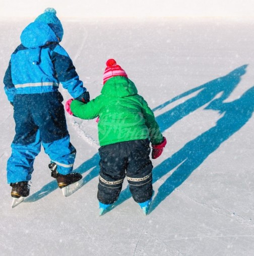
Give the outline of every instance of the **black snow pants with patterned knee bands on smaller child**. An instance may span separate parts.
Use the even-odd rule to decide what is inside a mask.
[[[145,202],[152,197],[152,170],[149,139],[118,142],[101,146],[97,198],[105,204],[117,200],[126,176],[133,199]]]

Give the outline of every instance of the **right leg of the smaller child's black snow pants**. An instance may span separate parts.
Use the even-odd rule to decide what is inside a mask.
[[[126,178],[136,202],[145,202],[153,194],[153,165],[149,157],[151,151],[149,144],[148,139],[128,141],[129,159]]]

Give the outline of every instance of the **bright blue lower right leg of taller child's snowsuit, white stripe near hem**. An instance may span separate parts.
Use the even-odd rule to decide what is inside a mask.
[[[42,145],[51,163],[57,164],[58,173],[66,175],[73,171],[76,149],[70,142],[69,135],[50,143],[42,142]]]

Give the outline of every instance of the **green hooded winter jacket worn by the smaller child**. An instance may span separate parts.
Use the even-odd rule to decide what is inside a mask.
[[[87,104],[73,100],[71,111],[81,119],[99,116],[101,146],[136,139],[150,138],[152,144],[163,140],[152,110],[138,94],[135,84],[122,76],[110,78],[101,94]]]

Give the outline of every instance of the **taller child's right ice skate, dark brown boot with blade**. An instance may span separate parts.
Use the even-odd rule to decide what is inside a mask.
[[[51,170],[51,177],[56,179],[58,187],[64,196],[71,195],[83,185],[82,175],[80,173],[60,174],[56,170],[57,165],[55,163],[49,164],[48,167]]]

